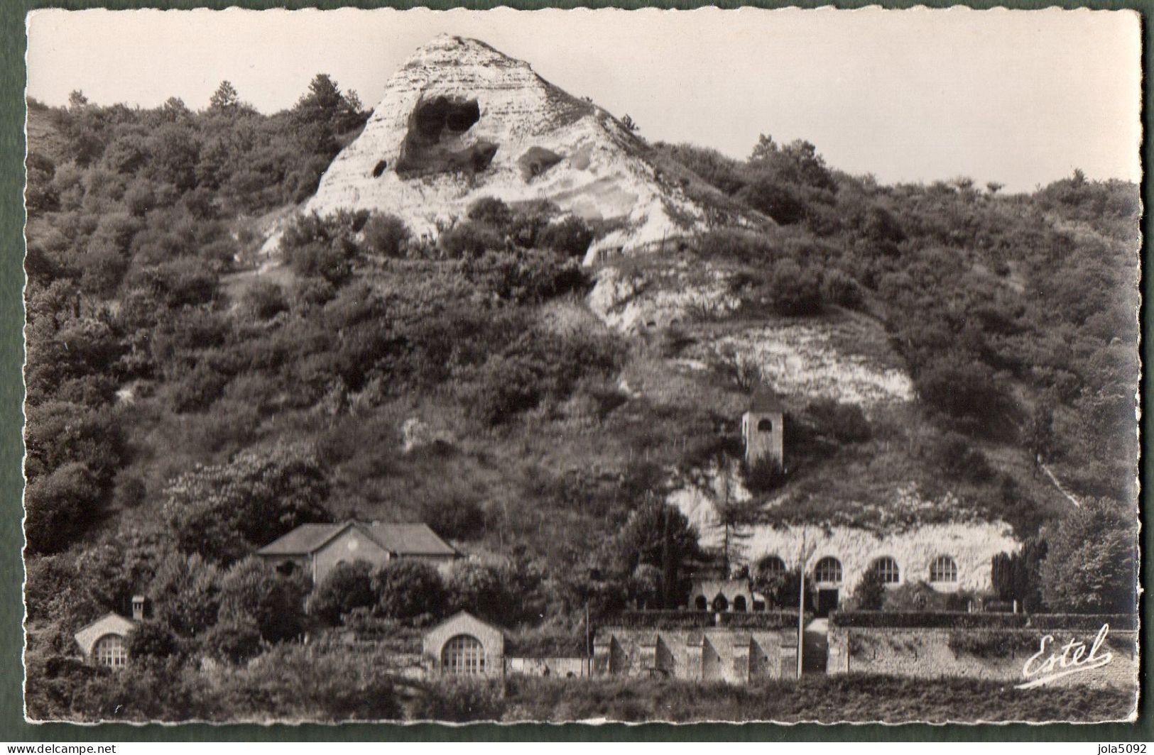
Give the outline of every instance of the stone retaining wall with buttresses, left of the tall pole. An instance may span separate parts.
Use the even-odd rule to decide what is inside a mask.
[[[796,665],[796,629],[608,627],[598,631],[592,673],[748,684]]]

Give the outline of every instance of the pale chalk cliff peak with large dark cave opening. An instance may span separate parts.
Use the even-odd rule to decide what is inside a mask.
[[[390,212],[415,235],[432,236],[437,221],[464,217],[479,197],[548,199],[620,226],[591,254],[639,249],[705,218],[659,180],[640,157],[645,149],[529,63],[475,39],[441,36],[389,80],[364,133],[329,166],[306,210]]]

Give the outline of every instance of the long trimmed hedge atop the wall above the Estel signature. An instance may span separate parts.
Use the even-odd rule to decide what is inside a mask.
[[[1138,617],[1087,613],[967,613],[961,611],[837,611],[830,620],[839,627],[926,629],[1111,629],[1138,628]]]

